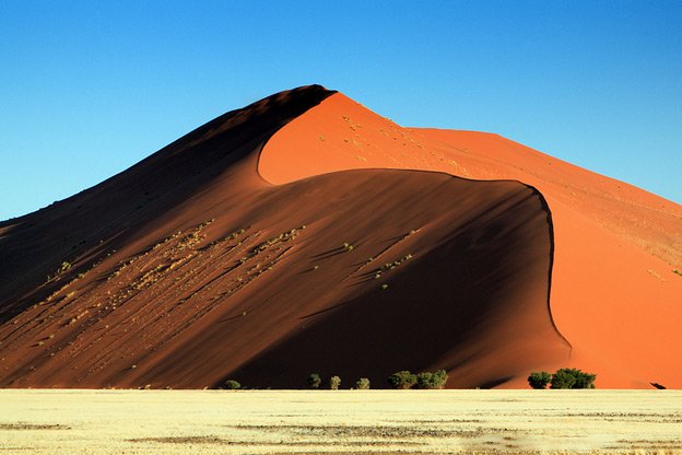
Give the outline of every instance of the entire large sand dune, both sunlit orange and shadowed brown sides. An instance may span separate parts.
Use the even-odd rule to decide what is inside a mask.
[[[0,385],[524,387],[575,365],[680,387],[681,213],[494,135],[283,92],[0,223]]]

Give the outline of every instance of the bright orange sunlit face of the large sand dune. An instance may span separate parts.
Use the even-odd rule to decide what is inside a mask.
[[[375,167],[538,188],[554,222],[552,314],[574,347],[569,362],[538,368],[595,371],[600,387],[682,387],[682,207],[497,135],[402,128],[340,93],[274,135],[259,163],[275,184]]]

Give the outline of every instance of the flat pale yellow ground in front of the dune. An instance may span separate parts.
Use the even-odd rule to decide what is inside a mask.
[[[680,390],[0,390],[2,454],[682,453]]]

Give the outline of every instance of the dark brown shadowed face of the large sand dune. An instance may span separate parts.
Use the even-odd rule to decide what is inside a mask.
[[[225,114],[0,224],[0,385],[301,387],[317,371],[379,386],[444,368],[450,387],[485,387],[568,359],[534,188],[396,170],[261,178],[263,143],[329,96]]]

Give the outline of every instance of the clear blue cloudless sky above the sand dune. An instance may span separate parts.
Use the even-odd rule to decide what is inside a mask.
[[[0,1],[0,219],[309,83],[682,202],[681,1]]]

